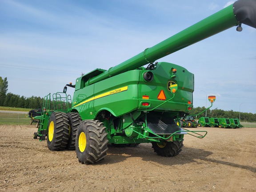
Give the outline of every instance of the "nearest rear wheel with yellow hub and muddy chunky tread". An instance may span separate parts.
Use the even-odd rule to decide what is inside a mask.
[[[108,150],[108,133],[98,120],[84,120],[76,132],[76,156],[82,164],[104,160]]]

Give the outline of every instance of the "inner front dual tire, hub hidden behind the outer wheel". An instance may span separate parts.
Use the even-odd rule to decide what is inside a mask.
[[[69,120],[69,139],[67,144],[68,150],[75,150],[76,149],[76,131],[77,128],[82,121],[79,113],[68,113],[68,120]]]

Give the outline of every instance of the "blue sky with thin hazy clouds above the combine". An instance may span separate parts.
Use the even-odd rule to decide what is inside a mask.
[[[224,8],[228,0],[0,0],[0,76],[43,97],[108,69]],[[230,28],[157,61],[195,74],[194,107],[256,113],[256,29]],[[72,96],[73,89],[68,89]]]

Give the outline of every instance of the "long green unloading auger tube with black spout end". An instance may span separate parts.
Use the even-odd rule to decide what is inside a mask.
[[[88,80],[87,85],[153,63],[157,59],[186,48],[191,44],[204,40],[228,28],[238,26],[237,31],[241,31],[241,24],[256,28],[256,0],[236,1],[234,4],[216,12],[212,16],[201,20],[151,48],[146,48],[140,54],[93,77]]]

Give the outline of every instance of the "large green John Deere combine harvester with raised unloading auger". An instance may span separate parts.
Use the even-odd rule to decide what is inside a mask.
[[[64,92],[75,88],[72,102],[60,93],[45,98],[45,105],[56,107],[44,111],[40,140],[47,136],[52,151],[76,148],[81,163],[102,161],[108,144],[152,143],[160,156],[178,155],[184,134],[203,138],[207,133],[174,122],[191,112],[194,75],[156,60],[233,26],[241,31],[242,23],[256,28],[252,7],[256,10],[256,0],[239,0],[121,64],[78,77],[64,87]]]

